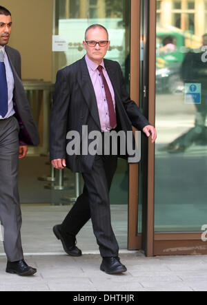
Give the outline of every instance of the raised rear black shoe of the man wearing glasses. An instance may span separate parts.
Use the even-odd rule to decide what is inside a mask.
[[[66,233],[62,233],[60,228],[61,228],[61,224],[57,224],[55,227],[53,227],[53,232],[54,232],[55,236],[57,237],[57,239],[61,240],[61,243],[63,244],[63,249],[70,256],[81,256],[82,255],[81,250],[78,249],[77,246],[75,245],[76,238],[71,237],[69,235],[67,236]],[[72,238],[72,240],[71,240],[71,238]]]

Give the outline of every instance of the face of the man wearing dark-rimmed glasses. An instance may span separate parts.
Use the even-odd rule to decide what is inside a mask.
[[[86,41],[108,41],[107,32],[103,28],[90,29],[88,30]],[[110,47],[110,41],[104,47],[100,47],[98,43],[95,47],[90,47],[86,41],[83,41],[83,47],[87,52],[88,58],[100,64]]]

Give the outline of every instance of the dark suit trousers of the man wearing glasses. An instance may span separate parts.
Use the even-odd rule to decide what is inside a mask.
[[[109,191],[117,169],[117,156],[96,156],[92,170],[83,173],[83,193],[61,224],[61,230],[77,235],[92,220],[102,257],[118,256],[119,246],[111,226]]]

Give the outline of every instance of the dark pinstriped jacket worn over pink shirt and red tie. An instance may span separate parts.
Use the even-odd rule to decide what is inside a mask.
[[[150,125],[136,103],[130,99],[119,63],[105,59],[104,65],[115,91],[117,131],[132,131],[132,125],[142,130]],[[77,131],[81,136],[83,125],[88,125],[88,134],[92,131],[101,132],[95,90],[85,57],[57,72],[50,118],[50,160],[66,158],[66,165],[72,171],[90,171],[95,156],[66,154],[69,141],[66,140],[66,134]],[[88,145],[91,141],[88,140]]]

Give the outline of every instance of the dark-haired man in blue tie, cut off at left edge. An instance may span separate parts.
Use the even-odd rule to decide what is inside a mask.
[[[21,56],[8,47],[12,28],[10,12],[0,6],[0,220],[8,257],[6,272],[33,275],[36,269],[23,259],[21,209],[17,175],[19,158],[27,145],[38,145],[39,134],[21,83]]]

